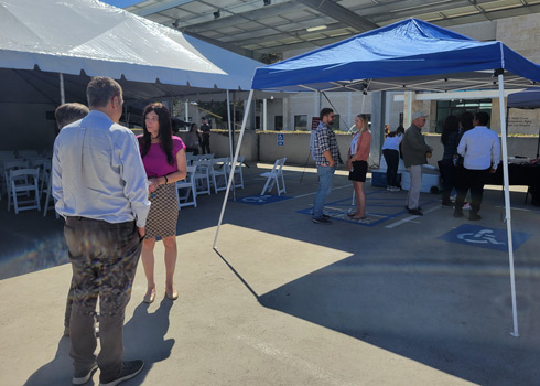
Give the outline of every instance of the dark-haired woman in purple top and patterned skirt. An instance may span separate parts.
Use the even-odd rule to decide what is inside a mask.
[[[143,301],[155,299],[154,246],[161,236],[165,246],[165,296],[171,300],[179,298],[173,285],[176,265],[176,181],[185,179],[185,146],[179,137],[173,137],[171,116],[160,103],[150,104],[142,116],[142,136],[139,148],[149,181],[149,199],[152,205],[147,219],[147,235],[142,244],[142,265],[147,275],[148,291]]]

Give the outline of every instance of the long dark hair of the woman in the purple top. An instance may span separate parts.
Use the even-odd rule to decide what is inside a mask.
[[[144,112],[142,114],[142,137],[139,137],[139,147],[141,148],[141,157],[144,158],[150,150],[150,144],[152,144],[152,139],[150,138],[150,131],[147,129],[147,115],[150,111],[154,111],[159,117],[160,124],[160,144],[161,149],[165,152],[166,162],[169,164],[174,164],[173,158],[173,129],[171,125],[171,115],[169,109],[163,106],[163,104],[156,101],[144,107]]]

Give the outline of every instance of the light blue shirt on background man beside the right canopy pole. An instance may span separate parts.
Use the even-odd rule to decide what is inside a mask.
[[[463,156],[465,169],[497,169],[500,161],[499,136],[485,126],[476,126],[463,133],[457,153]]]

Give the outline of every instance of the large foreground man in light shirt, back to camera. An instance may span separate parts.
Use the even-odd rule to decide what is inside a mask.
[[[120,85],[98,76],[86,96],[88,116],[64,127],[54,142],[52,186],[73,268],[73,383],[87,383],[99,366],[100,385],[115,386],[144,365],[122,362],[122,331],[150,202],[137,138],[118,125]],[[101,350],[96,356],[98,298]]]

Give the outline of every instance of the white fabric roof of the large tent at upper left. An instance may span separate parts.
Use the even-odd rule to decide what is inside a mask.
[[[0,68],[249,89],[257,61],[96,0],[1,0]]]

